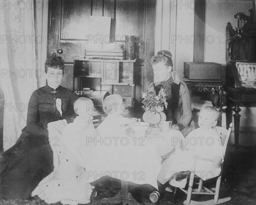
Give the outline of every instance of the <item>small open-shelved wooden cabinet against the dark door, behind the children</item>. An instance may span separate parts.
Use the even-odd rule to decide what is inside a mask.
[[[133,105],[134,84],[134,60],[113,59],[74,59],[73,90],[75,90],[75,78],[77,78],[77,90],[82,87],[91,90],[108,91],[109,94],[119,94],[124,102]],[[87,79],[86,79],[87,78]],[[95,96],[88,96],[94,99]],[[101,98],[102,97],[97,97]],[[98,102],[98,104],[100,101]]]

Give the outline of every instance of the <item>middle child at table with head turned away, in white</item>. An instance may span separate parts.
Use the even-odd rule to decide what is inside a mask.
[[[108,116],[96,128],[99,137],[120,137],[125,135],[125,127],[136,120],[123,117],[122,114],[127,110],[127,105],[123,103],[121,95],[112,94],[103,101],[103,110]]]

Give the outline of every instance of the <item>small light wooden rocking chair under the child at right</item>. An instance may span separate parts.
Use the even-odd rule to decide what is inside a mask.
[[[222,142],[222,145],[223,145],[224,156],[225,156],[225,153],[226,153],[227,142],[228,142],[229,137],[230,137],[231,128],[232,128],[232,123],[230,123],[230,127],[229,127],[228,130],[226,128],[218,127],[218,131],[221,134],[226,135],[224,140],[223,140],[223,138],[221,139],[221,142]],[[195,158],[195,161],[196,161],[196,158]],[[222,168],[223,168],[223,164],[221,164],[221,170],[222,170]],[[202,205],[215,205],[215,204],[221,204],[221,203],[224,203],[224,202],[228,202],[228,201],[231,200],[231,197],[226,197],[224,199],[218,199],[219,191],[220,191],[220,185],[221,185],[221,175],[217,179],[215,188],[212,188],[212,189],[206,188],[203,185],[203,180],[202,179],[199,179],[199,182],[195,183],[195,184],[198,184],[198,188],[193,189],[194,178],[195,178],[195,171],[191,171],[188,190],[180,188],[182,191],[184,191],[187,194],[187,198],[183,202],[183,204],[185,204],[185,205],[200,205],[200,204],[202,204]],[[201,201],[201,202],[200,201],[193,201],[193,200],[191,200],[192,194],[214,195],[214,199],[211,199],[211,200],[208,200],[208,201]]]

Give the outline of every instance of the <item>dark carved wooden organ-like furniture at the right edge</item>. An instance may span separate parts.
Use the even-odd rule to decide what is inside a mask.
[[[239,106],[256,106],[256,20],[253,16],[255,8],[254,12],[252,10],[249,10],[251,16],[246,17],[247,22],[242,28],[236,27],[235,31],[231,23],[227,23],[226,27],[226,118],[229,125],[234,107],[236,147],[239,145]],[[243,32],[240,32],[241,29]]]

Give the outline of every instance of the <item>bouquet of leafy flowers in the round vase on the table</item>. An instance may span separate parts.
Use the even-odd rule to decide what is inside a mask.
[[[144,99],[142,107],[145,111],[160,112],[163,111],[163,107],[167,108],[168,103],[166,102],[166,94],[164,89],[161,88],[159,94],[156,95],[153,92],[144,91],[142,93],[142,98]]]

